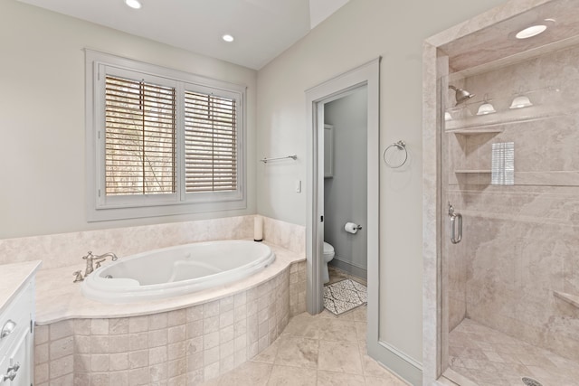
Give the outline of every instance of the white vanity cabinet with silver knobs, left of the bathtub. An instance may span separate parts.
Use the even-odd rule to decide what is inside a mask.
[[[0,266],[9,286],[0,299],[0,386],[33,384],[34,272],[40,264]],[[14,268],[14,275],[10,270]],[[29,269],[31,268],[31,269]],[[22,275],[18,275],[22,273]],[[0,286],[3,287],[3,286]]]

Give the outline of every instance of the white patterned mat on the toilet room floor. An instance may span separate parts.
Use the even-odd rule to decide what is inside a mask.
[[[324,306],[334,315],[342,315],[367,302],[366,287],[349,278],[324,287]]]

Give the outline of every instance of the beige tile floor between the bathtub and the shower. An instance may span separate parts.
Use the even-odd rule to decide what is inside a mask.
[[[330,283],[343,275],[330,272]],[[296,315],[269,348],[204,386],[405,386],[366,354],[365,315],[366,306]]]

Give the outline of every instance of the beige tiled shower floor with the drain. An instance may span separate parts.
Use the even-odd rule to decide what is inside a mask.
[[[579,363],[470,319],[451,331],[449,363],[454,372],[480,386],[524,386],[523,377],[543,386],[579,384]]]

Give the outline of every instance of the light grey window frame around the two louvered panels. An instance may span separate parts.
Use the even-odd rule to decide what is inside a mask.
[[[85,50],[86,175],[88,221],[123,220],[185,213],[245,209],[246,87],[223,80],[134,61],[104,52]],[[176,193],[105,194],[106,75],[143,79],[176,88]],[[185,89],[236,100],[237,189],[229,192],[185,193]]]

